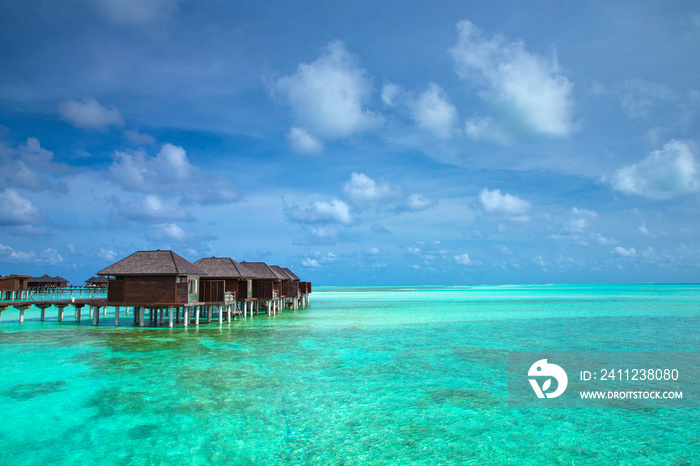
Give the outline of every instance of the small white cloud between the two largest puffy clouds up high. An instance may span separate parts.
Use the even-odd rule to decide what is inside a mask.
[[[449,139],[455,134],[459,114],[437,84],[431,83],[427,90],[409,99],[407,105],[419,128],[440,139]]]

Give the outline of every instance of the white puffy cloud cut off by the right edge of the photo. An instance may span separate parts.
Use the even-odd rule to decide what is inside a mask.
[[[603,181],[622,193],[655,200],[694,193],[700,189],[695,151],[691,142],[672,140]]]

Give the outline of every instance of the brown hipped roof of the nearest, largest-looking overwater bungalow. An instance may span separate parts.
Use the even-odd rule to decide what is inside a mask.
[[[138,251],[97,275],[206,275],[173,251]]]

